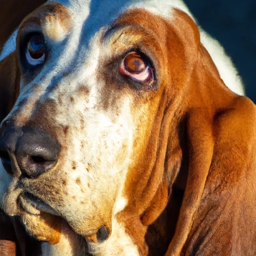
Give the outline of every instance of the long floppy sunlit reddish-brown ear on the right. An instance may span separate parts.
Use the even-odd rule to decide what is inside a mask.
[[[252,239],[249,242],[246,234],[255,237],[256,213],[252,209],[256,206],[256,107],[248,98],[236,95],[227,88],[202,45],[190,83],[184,100],[188,174],[175,233],[165,256],[180,256],[187,247],[191,249],[195,245],[199,246],[200,242],[196,241],[193,234],[203,233],[205,229],[212,230],[211,236],[215,239],[209,238],[207,233],[202,235],[202,239],[208,239],[207,255],[213,253],[214,246],[214,250],[217,250],[214,241],[220,241],[222,235],[225,239],[219,243],[220,252],[231,243],[232,246],[238,243],[252,244]],[[180,172],[183,171],[180,169]],[[221,209],[220,213],[209,215],[214,206]],[[209,220],[212,218],[209,216],[214,214],[229,231],[214,226]],[[239,231],[233,231],[234,227]],[[222,229],[223,233],[215,234],[213,231],[216,228]],[[193,248],[187,253],[190,255],[192,251]],[[239,255],[245,255],[243,249],[238,251]]]

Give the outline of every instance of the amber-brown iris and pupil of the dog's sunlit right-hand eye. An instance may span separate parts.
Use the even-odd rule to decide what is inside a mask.
[[[146,68],[146,64],[138,53],[131,52],[124,58],[124,68],[130,73],[140,73]]]

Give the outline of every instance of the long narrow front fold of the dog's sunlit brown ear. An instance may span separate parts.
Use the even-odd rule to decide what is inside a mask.
[[[180,255],[203,194],[214,146],[212,121],[206,116],[207,114],[204,113],[202,108],[195,108],[188,114],[188,179],[175,234],[165,254],[166,256]]]

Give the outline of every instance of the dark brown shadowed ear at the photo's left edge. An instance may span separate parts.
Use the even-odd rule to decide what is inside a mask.
[[[0,62],[0,122],[12,109],[20,89],[16,51]]]

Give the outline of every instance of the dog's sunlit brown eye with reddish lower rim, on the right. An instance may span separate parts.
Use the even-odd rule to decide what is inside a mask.
[[[125,56],[120,72],[140,82],[154,82],[152,68],[146,58],[138,52],[130,52]]]

